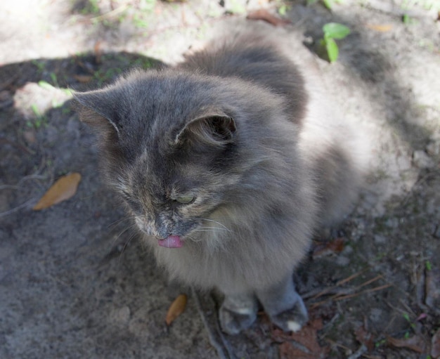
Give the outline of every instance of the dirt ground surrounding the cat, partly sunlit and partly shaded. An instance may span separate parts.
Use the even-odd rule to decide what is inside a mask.
[[[440,358],[440,4],[304,3],[1,2],[0,358]],[[130,232],[66,89],[175,63],[214,25],[262,8],[311,51],[325,23],[351,29],[336,63],[316,60],[373,161],[354,212],[295,274],[309,325],[283,334],[261,313],[230,337],[216,294],[169,285]],[[75,196],[33,211],[71,172]],[[186,311],[167,327],[182,291]]]

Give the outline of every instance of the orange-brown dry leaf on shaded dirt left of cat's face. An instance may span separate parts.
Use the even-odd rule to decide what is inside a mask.
[[[79,181],[81,181],[81,175],[78,173],[67,174],[63,176],[56,183],[53,183],[51,188],[44,193],[44,196],[38,201],[32,208],[34,211],[45,209],[57,204],[59,202],[68,200],[77,192]]]

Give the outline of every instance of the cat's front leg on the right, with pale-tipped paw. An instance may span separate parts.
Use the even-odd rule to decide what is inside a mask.
[[[257,297],[273,324],[285,332],[296,332],[309,320],[304,301],[295,290],[292,275],[286,275],[276,285],[259,289]]]

